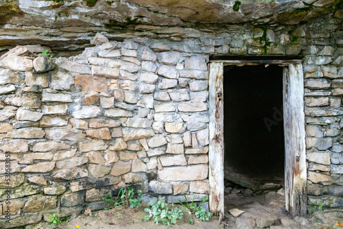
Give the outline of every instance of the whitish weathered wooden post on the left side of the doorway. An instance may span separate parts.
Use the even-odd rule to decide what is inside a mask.
[[[209,208],[224,216],[224,64],[212,62],[209,75]]]

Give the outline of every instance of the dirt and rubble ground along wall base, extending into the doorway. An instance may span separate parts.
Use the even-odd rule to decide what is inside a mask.
[[[176,204],[178,208],[180,205]],[[72,217],[55,228],[60,229],[105,229],[105,228],[170,228],[163,224],[154,224],[154,221],[141,221],[144,212],[144,204],[140,208],[112,208],[109,210],[100,210],[92,215],[79,215]],[[243,210],[239,216],[234,217],[228,210],[238,208]],[[188,224],[189,215],[185,213],[182,219],[178,219],[178,224],[173,228],[191,229],[343,229],[343,209],[326,210],[318,207],[309,210],[305,217],[292,217],[285,210],[285,195],[283,189],[268,190],[262,193],[252,193],[249,189],[234,187],[226,189],[224,219],[219,222],[219,217],[213,216],[210,221],[194,220],[193,225]],[[335,224],[342,224],[335,225]],[[47,229],[51,226],[47,223],[39,226],[27,227],[28,229]]]

